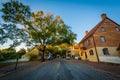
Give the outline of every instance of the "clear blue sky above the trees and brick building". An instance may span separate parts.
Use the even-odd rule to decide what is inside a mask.
[[[0,0],[6,2],[10,0]],[[28,5],[32,12],[42,10],[54,16],[59,15],[65,24],[77,34],[76,42],[85,36],[98,22],[101,14],[120,24],[120,0],[19,0]],[[1,8],[1,5],[0,5]],[[5,46],[5,45],[4,45]]]

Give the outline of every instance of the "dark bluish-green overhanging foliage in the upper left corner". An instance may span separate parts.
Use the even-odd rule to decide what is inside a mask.
[[[19,45],[25,40],[26,34],[21,29],[29,23],[31,16],[29,6],[19,1],[11,0],[2,4],[2,21],[0,23],[0,44],[4,44],[8,39],[13,41],[12,47]]]

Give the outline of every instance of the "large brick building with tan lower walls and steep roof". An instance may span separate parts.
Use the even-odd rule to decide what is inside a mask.
[[[79,54],[82,60],[120,63],[120,25],[102,14],[100,21],[79,42]]]

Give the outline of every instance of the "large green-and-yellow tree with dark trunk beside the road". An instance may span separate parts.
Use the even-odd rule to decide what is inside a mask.
[[[41,45],[42,61],[44,61],[47,45],[72,44],[76,38],[76,34],[64,24],[60,16],[54,17],[50,13],[44,14],[43,11],[37,11],[32,14],[31,24],[32,26],[28,26],[24,30],[29,35],[30,42]]]

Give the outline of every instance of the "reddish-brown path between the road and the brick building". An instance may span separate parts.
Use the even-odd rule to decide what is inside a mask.
[[[105,71],[109,74],[120,77],[120,64],[96,63],[96,62],[81,61],[81,60],[71,60],[71,61],[73,61],[75,63],[85,64],[94,69]]]

